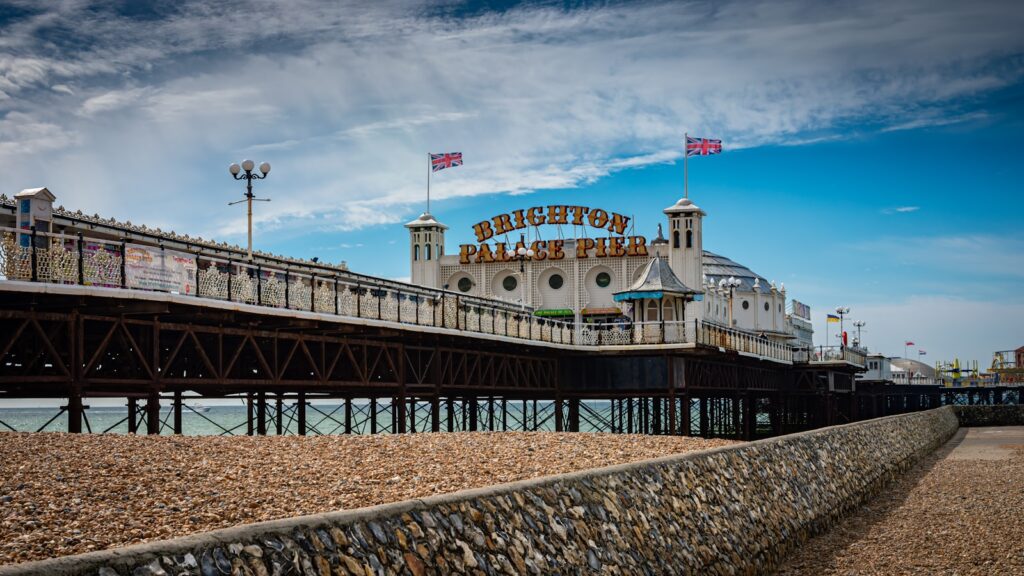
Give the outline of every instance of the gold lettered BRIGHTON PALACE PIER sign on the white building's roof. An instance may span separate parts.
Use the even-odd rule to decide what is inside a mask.
[[[566,250],[575,250],[577,258],[588,258],[593,255],[598,258],[617,258],[622,256],[646,256],[647,239],[642,236],[625,236],[630,218],[615,212],[607,212],[600,208],[587,206],[535,206],[525,210],[513,210],[507,214],[481,220],[473,224],[478,244],[463,244],[459,248],[459,262],[505,262],[510,258],[506,254],[509,248],[517,250],[520,246],[534,250],[534,260],[560,260],[565,257]],[[578,238],[573,245],[566,246],[564,240],[535,240],[529,246],[523,242],[506,247],[505,242],[487,241],[508,235],[510,232],[523,230],[526,227],[542,227],[545,224],[589,225],[611,233],[607,238]]]

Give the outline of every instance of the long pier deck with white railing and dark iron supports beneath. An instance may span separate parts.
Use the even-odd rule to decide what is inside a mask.
[[[859,417],[854,348],[809,355],[699,318],[671,331],[581,326],[521,302],[37,210],[22,201],[52,195],[28,192],[0,197],[0,398],[68,399],[54,418],[69,431],[102,431],[88,420],[94,398],[127,399],[128,430],[150,434],[183,431],[185,401],[206,398],[246,402],[225,434],[756,438]]]

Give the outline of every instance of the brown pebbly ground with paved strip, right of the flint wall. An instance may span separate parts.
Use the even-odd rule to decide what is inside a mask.
[[[1024,575],[1024,426],[962,429],[777,574]]]

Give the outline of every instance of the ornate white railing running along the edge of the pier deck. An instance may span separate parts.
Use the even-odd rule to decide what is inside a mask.
[[[163,265],[160,262],[169,262]],[[252,261],[203,248],[0,227],[7,280],[162,291],[246,304],[584,346],[699,344],[780,362],[793,348],[711,322],[582,324],[534,308],[332,268]]]

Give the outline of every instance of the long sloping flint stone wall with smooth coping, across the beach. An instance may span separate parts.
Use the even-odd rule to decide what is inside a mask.
[[[941,408],[0,575],[762,573],[956,428]]]

